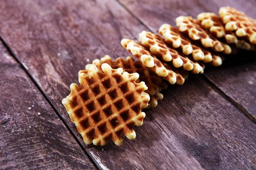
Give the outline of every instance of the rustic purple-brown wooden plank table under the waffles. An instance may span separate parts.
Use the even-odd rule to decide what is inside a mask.
[[[0,169],[256,169],[255,53],[170,85],[121,147],[84,144],[61,104],[122,38],[228,5],[256,18],[255,0],[1,0]]]

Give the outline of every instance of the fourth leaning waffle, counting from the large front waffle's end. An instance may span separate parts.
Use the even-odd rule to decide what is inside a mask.
[[[200,26],[198,20],[195,20],[192,17],[180,16],[176,18],[176,25],[181,32],[187,34],[192,40],[200,40],[205,48],[212,48],[213,51],[231,54],[232,50],[230,46],[220,42],[210,33],[205,31]]]

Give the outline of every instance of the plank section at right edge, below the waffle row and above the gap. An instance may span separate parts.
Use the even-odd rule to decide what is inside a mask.
[[[207,77],[256,122],[256,59],[253,52],[230,56],[219,69],[210,67]]]

